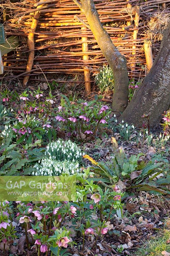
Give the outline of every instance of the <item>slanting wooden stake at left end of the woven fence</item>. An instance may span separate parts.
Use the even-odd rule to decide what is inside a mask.
[[[42,5],[40,5],[41,8]],[[37,8],[37,9],[38,9]],[[40,11],[36,11],[33,17],[33,21],[30,27],[30,32],[28,34],[28,47],[29,50],[32,50],[32,52],[29,53],[29,57],[28,57],[28,62],[27,62],[27,66],[26,66],[26,72],[27,71],[31,71],[32,67],[33,67],[33,60],[34,60],[34,49],[35,49],[35,45],[34,45],[34,32],[36,31],[37,25],[38,25],[38,20],[40,18]],[[29,76],[25,76],[23,79],[23,86],[26,87],[26,84],[28,83],[28,79]]]

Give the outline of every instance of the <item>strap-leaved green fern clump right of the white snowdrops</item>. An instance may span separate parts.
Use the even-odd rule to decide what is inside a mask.
[[[126,178],[129,179],[131,185],[127,189],[136,188],[137,191],[146,190],[150,193],[170,194],[167,187],[170,183],[169,164],[155,163],[153,160],[148,163],[139,161],[142,155],[141,153],[128,158],[122,149],[116,149],[112,163],[100,162],[92,167],[92,170],[103,178],[102,182],[107,184],[114,184],[118,180],[123,181]]]

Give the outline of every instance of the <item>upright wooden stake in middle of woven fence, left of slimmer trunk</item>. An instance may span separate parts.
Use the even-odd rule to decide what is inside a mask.
[[[82,27],[81,29],[86,30],[86,27]],[[87,37],[82,37],[82,42],[85,42],[88,40]],[[82,52],[88,52],[89,48],[88,48],[88,43],[82,43]],[[88,55],[83,55],[83,60],[89,60],[89,56]],[[88,67],[84,67],[84,76],[85,76],[85,92],[86,94],[91,92],[91,84],[90,84],[90,70],[88,69]]]

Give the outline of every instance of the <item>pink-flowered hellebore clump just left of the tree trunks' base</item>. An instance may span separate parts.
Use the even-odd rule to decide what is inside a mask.
[[[97,137],[102,133],[110,114],[109,107],[102,105],[98,100],[83,102],[78,100],[71,104],[69,99],[62,95],[61,106],[58,107],[58,115],[55,116],[57,125],[67,132],[68,136],[85,141]]]

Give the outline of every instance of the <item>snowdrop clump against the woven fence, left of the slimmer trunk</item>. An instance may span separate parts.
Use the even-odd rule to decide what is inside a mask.
[[[100,92],[113,91],[114,80],[112,69],[105,65],[100,68],[99,73],[94,77],[95,83],[98,85]]]

